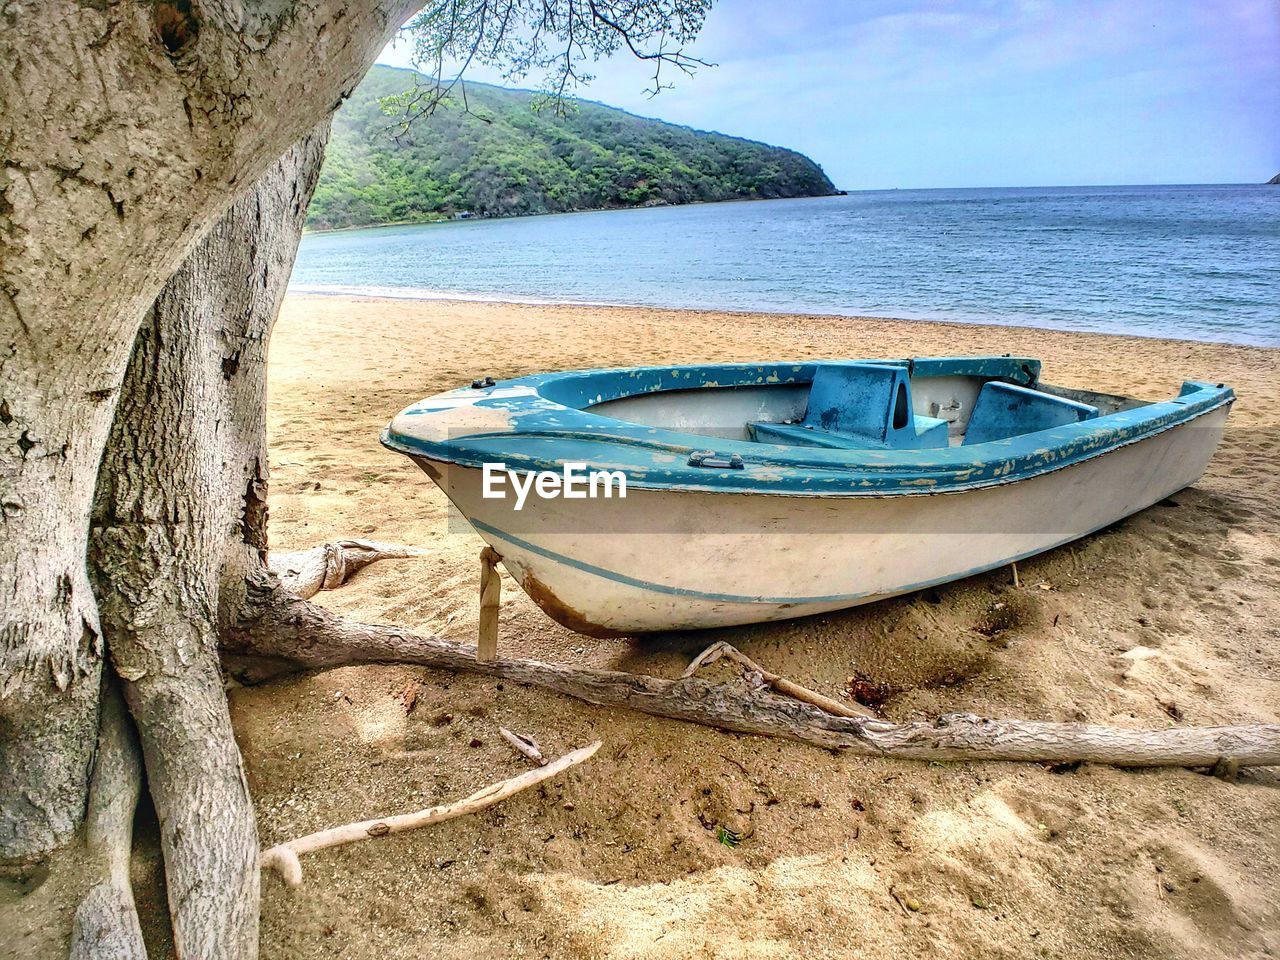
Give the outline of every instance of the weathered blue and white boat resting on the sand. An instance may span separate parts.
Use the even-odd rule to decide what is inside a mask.
[[[1014,356],[641,366],[481,378],[381,439],[550,617],[620,636],[824,613],[1087,536],[1196,483],[1234,398],[1052,387]]]

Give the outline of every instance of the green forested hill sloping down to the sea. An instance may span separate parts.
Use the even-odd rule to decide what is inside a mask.
[[[535,111],[527,91],[481,83],[466,86],[470,113],[454,91],[396,142],[379,97],[412,82],[411,70],[375,67],[338,111],[308,227],[835,192],[822,168],[792,150],[588,101],[557,116]]]

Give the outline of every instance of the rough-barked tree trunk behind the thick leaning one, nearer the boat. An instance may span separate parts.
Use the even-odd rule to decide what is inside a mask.
[[[220,588],[224,562],[262,562],[268,335],[328,127],[237,200],[165,284],[99,479],[91,568],[160,819],[180,956],[257,950],[257,829],[218,660]]]

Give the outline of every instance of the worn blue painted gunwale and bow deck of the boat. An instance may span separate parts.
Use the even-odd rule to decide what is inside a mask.
[[[1224,384],[1188,380],[1176,397],[1093,420],[968,447],[916,451],[828,449],[730,440],[590,412],[591,406],[607,399],[663,390],[804,384],[812,381],[813,371],[823,362],[842,361],[621,367],[517,378],[484,388],[484,393],[476,390],[472,394],[463,388],[420,401],[388,425],[381,442],[389,449],[415,458],[471,468],[500,462],[508,470],[544,471],[559,470],[566,462],[581,462],[593,470],[621,470],[626,474],[628,488],[646,490],[781,497],[927,495],[997,486],[1061,470],[1190,424],[1235,399],[1231,388]],[[1038,383],[1039,375],[1038,361],[1009,356],[872,362],[910,364],[923,376],[995,375],[1032,385]],[[778,376],[778,371],[786,371],[786,376]],[[636,379],[644,378],[649,378],[650,383],[652,378],[658,378],[659,385],[622,392],[622,383],[618,383],[630,380],[634,387]],[[580,396],[577,402],[582,403],[581,407],[570,407],[563,402],[571,399],[568,393],[572,389],[581,390],[584,383],[596,381],[612,383],[618,393],[605,397],[602,392],[586,398],[588,402]],[[494,393],[497,396],[492,396]],[[557,396],[559,402],[553,398]],[[433,407],[433,402],[445,406]],[[445,440],[415,436],[397,429],[406,421],[412,424],[419,416],[429,417],[433,412],[460,406],[483,411],[497,408],[507,419],[506,429],[479,430]],[[513,440],[526,449],[513,449]],[[558,449],[547,456],[536,451],[541,444],[554,444]],[[708,448],[740,454],[745,468],[716,471],[687,465],[690,452]]]

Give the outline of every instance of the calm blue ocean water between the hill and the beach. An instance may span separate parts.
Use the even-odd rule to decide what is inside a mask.
[[[1280,346],[1280,187],[869,191],[303,238],[291,289]]]

